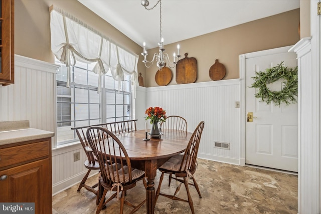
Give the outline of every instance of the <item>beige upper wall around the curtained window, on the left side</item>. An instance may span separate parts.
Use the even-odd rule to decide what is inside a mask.
[[[54,62],[50,43],[49,7],[51,5],[57,6],[121,46],[140,55],[139,45],[77,0],[15,0],[15,54],[45,62]],[[141,62],[143,58],[139,57]],[[138,71],[145,74],[145,67],[142,63],[138,64]]]

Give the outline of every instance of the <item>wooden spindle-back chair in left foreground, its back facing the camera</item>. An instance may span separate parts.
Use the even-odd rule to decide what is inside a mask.
[[[133,207],[130,213],[137,211],[146,199],[138,205],[134,205],[125,200],[125,195],[128,189],[136,186],[138,180],[142,179],[146,188],[147,184],[144,179],[145,171],[131,167],[126,149],[111,131],[103,127],[90,127],[87,130],[87,139],[98,159],[101,173],[99,191],[103,190],[103,193],[96,214],[98,214],[111,199],[117,198],[118,200],[119,192],[121,192],[119,213],[123,213],[124,204]],[[105,200],[107,191],[114,191],[115,193]]]

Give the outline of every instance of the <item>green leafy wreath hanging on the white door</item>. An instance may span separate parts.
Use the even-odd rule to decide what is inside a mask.
[[[277,66],[266,69],[265,72],[255,72],[255,74],[256,76],[252,77],[255,82],[250,88],[258,89],[255,93],[256,98],[261,98],[267,104],[273,102],[277,106],[281,103],[288,105],[297,102],[297,66],[294,69],[287,68],[281,62]],[[281,91],[271,91],[266,87],[267,84],[279,79],[284,79],[282,82],[284,87]]]

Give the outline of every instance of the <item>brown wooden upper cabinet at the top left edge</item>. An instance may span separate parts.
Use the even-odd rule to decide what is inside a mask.
[[[15,79],[15,0],[0,0],[0,84]]]

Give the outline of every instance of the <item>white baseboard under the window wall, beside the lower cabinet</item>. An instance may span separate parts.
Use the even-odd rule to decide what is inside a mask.
[[[62,180],[58,183],[53,184],[52,185],[52,195],[54,196],[64,190],[72,187],[73,185],[80,183],[80,181],[82,180],[82,178],[85,176],[86,173],[87,173],[87,169],[85,171],[82,171],[81,173],[78,173],[72,177],[69,177],[68,179],[65,179],[65,180]],[[92,177],[96,174],[98,174],[98,170],[92,170],[89,173],[88,177]]]

